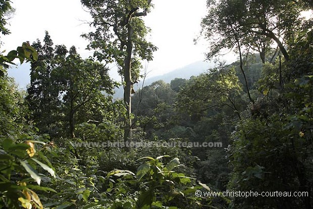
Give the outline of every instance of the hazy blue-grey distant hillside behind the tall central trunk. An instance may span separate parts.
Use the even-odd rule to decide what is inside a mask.
[[[144,86],[148,86],[152,82],[157,81],[157,80],[164,80],[165,82],[170,83],[171,80],[173,80],[175,78],[189,79],[191,76],[199,75],[199,74],[205,72],[207,69],[210,69],[213,67],[214,67],[214,64],[212,64],[212,63],[203,62],[203,61],[194,62],[190,65],[185,66],[185,67],[170,71],[166,74],[154,76],[151,78],[146,78],[144,81]],[[134,85],[135,91],[141,87],[142,87],[142,81],[140,81],[139,83]],[[123,98],[123,87],[120,87],[119,89],[115,90],[114,98],[115,99]]]

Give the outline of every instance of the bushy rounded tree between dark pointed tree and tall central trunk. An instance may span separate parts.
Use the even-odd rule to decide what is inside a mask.
[[[82,59],[75,47],[71,47],[67,53],[65,46],[57,46],[55,58],[59,62],[55,76],[61,82],[62,109],[67,115],[66,127],[69,127],[69,136],[75,138],[77,122],[103,120],[104,115],[97,114],[101,112],[100,107],[105,109],[110,106],[108,103],[112,101],[116,83],[110,79],[108,68],[92,59]]]

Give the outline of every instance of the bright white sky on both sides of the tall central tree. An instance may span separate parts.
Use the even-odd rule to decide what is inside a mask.
[[[148,64],[149,76],[160,75],[193,62],[204,60],[205,45],[194,45],[201,18],[205,16],[206,0],[152,0],[154,9],[144,20],[152,29],[148,39],[159,48]],[[88,44],[80,35],[90,27],[83,24],[90,16],[80,0],[12,0],[16,8],[9,21],[11,34],[2,37],[2,50],[14,50],[24,41],[32,43],[44,37],[47,30],[54,44],[68,48],[75,45],[82,57],[92,55],[84,50]],[[113,76],[116,74],[113,73]]]

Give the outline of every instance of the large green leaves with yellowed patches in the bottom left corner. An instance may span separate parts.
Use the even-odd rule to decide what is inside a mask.
[[[42,154],[45,149],[49,149],[49,144],[44,142],[48,138],[37,136],[33,132],[11,134],[0,138],[0,206],[43,208],[35,191],[56,192],[54,189],[40,186],[46,182],[47,176],[56,177],[54,168]],[[39,171],[44,171],[47,176],[39,174]]]

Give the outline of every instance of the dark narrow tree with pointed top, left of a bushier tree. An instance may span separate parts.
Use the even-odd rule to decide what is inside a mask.
[[[27,88],[26,100],[32,111],[32,119],[42,133],[57,134],[60,132],[58,121],[61,117],[58,108],[61,106],[59,87],[54,79],[53,41],[48,32],[45,32],[44,44],[37,39],[33,47],[38,52],[38,61],[31,63],[30,86]]]

